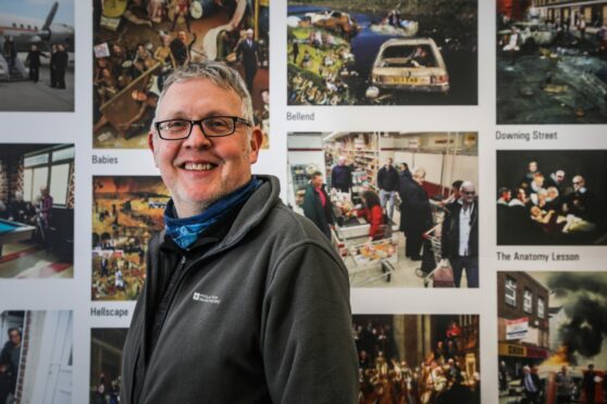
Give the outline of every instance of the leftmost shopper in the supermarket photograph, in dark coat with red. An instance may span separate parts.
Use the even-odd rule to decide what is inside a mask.
[[[310,175],[310,182],[306,186],[304,195],[304,215],[331,240],[331,225],[333,225],[333,204],[324,189],[322,174],[314,172]]]

